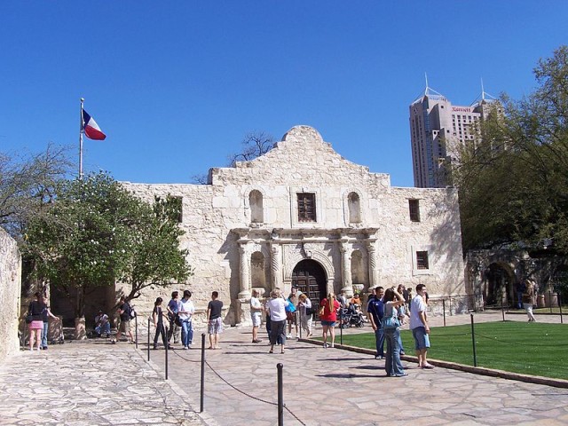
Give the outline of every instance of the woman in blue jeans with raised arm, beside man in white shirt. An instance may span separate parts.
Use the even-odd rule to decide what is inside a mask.
[[[400,326],[398,324],[398,306],[405,303],[404,297],[394,287],[387,288],[383,297],[384,303],[384,336],[387,341],[387,353],[384,369],[387,377],[402,377],[407,375],[400,362]],[[389,327],[388,320],[392,319]]]

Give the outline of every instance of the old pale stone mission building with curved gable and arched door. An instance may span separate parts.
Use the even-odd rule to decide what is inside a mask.
[[[311,127],[294,127],[255,160],[209,170],[208,185],[124,185],[147,201],[181,200],[181,245],[195,272],[150,290],[138,310],[190,288],[203,312],[217,290],[225,323],[236,325],[248,322],[253,288],[267,296],[292,285],[314,302],[399,283],[426,284],[433,301],[453,297],[454,311],[471,302],[457,191],[393,187],[388,174],[346,161]]]

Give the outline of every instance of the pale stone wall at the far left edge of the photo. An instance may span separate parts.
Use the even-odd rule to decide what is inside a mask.
[[[0,227],[0,361],[19,350],[21,256],[16,241]]]

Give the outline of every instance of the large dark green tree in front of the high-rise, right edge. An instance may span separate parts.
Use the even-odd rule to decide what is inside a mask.
[[[541,59],[540,84],[515,101],[501,97],[454,174],[464,248],[525,241],[568,253],[568,48]],[[495,107],[495,106],[493,106]]]

